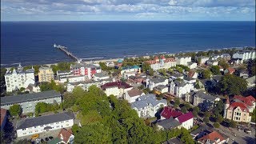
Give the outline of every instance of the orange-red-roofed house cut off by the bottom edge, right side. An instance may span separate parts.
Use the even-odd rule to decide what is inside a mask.
[[[228,140],[229,138],[224,138],[217,131],[213,131],[210,134],[206,134],[202,138],[198,138],[198,143],[221,144],[228,142]]]

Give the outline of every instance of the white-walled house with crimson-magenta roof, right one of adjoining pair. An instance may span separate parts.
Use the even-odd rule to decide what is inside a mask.
[[[194,115],[191,111],[189,113],[182,114],[175,119],[178,120],[186,130],[190,130],[193,127]]]

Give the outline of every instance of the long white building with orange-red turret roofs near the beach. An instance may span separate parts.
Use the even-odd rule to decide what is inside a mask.
[[[157,56],[152,61],[146,61],[153,70],[169,69],[170,67],[176,66],[176,60],[174,58],[165,58],[163,55],[161,59]]]

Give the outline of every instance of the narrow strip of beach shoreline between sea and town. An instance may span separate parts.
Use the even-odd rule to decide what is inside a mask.
[[[102,59],[91,59],[91,60],[86,60],[86,61],[82,61],[86,64],[89,64],[90,62],[94,62],[94,63],[99,63],[99,62],[117,62],[118,59],[124,59],[124,58],[139,58],[139,57],[143,57],[143,58],[150,58],[150,56],[154,56],[156,54],[165,54],[165,55],[175,55],[175,54],[180,54],[180,53],[183,53],[183,54],[186,54],[186,53],[191,53],[191,52],[194,52],[194,53],[198,53],[199,51],[202,51],[202,52],[207,52],[207,51],[210,51],[210,50],[229,50],[229,49],[237,49],[237,50],[242,50],[244,48],[247,48],[247,47],[251,47],[251,48],[255,48],[255,46],[243,46],[243,47],[229,47],[229,48],[218,48],[218,49],[205,49],[205,50],[185,50],[185,51],[179,51],[177,53],[167,53],[167,52],[159,52],[159,53],[154,53],[154,54],[143,54],[143,55],[140,55],[140,56],[123,56],[122,58],[102,58]],[[74,61],[74,59],[72,58],[71,61],[69,62],[76,62]],[[6,69],[10,69],[12,67],[15,67],[16,65],[18,65],[19,62],[17,63],[14,63],[14,64],[10,64],[10,65],[14,65],[14,66],[8,66],[8,64],[6,64],[6,66],[2,66],[1,64],[1,68],[6,68]],[[34,65],[26,65],[26,66],[35,66],[35,65],[39,65],[39,66],[43,66],[43,65],[46,65],[46,66],[51,66],[51,65],[57,65],[59,62],[55,62],[55,63],[46,63],[46,64],[34,64]],[[22,62],[21,62],[21,65],[22,65]],[[23,65],[22,65],[23,66]],[[24,65],[25,66],[25,65]]]

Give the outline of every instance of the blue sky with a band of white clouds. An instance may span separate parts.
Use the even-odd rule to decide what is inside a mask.
[[[255,21],[255,0],[1,0],[1,21]]]

